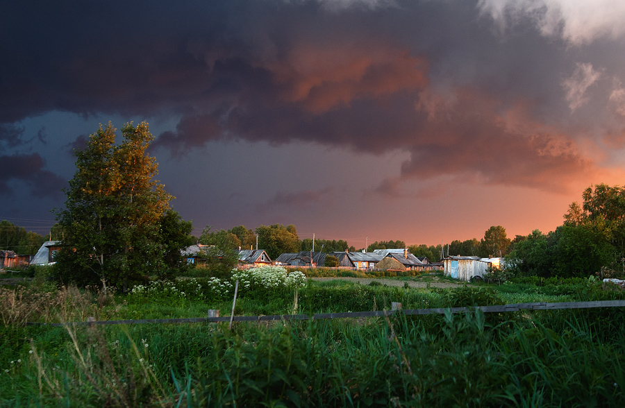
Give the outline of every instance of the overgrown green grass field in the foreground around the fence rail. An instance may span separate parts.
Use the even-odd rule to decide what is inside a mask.
[[[625,298],[587,280],[453,289],[271,282],[243,285],[235,314]],[[25,326],[88,316],[203,317],[207,309],[224,316],[232,306],[230,292],[219,294],[208,278],[131,295],[39,283],[0,288],[0,407],[586,407],[619,406],[625,397],[619,308],[237,323],[231,330],[216,323]]]

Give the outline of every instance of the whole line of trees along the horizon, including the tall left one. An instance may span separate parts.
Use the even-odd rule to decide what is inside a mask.
[[[115,128],[101,126],[87,146],[76,151],[76,173],[64,190],[65,208],[56,210],[62,231],[53,274],[61,282],[114,285],[126,289],[149,275],[167,278],[186,265],[181,250],[199,241],[219,250],[258,248],[276,259],[281,253],[312,250],[312,239],[299,239],[290,224],[205,228],[192,237],[192,224],[169,207],[173,196],[155,180],[158,164],[147,153],[153,141],[148,124],[126,124],[122,142]],[[583,192],[583,203],[569,206],[555,231],[509,239],[502,226],[492,226],[480,240],[451,241],[442,246],[407,246],[410,253],[433,262],[441,255],[506,256],[519,273],[585,276],[603,269],[623,271],[625,259],[625,187],[597,185]],[[8,221],[0,223],[0,247],[34,254],[45,237]],[[367,250],[406,248],[404,241],[376,241]],[[356,250],[347,241],[316,239],[315,250]],[[223,255],[223,254],[222,254]]]

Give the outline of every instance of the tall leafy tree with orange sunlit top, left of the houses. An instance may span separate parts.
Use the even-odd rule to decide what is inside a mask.
[[[65,232],[57,276],[63,282],[126,287],[149,273],[180,266],[190,223],[169,212],[174,198],[153,177],[158,164],[147,154],[153,140],[147,123],[108,124],[76,152],[76,173],[57,218]],[[179,253],[179,252],[178,252]]]

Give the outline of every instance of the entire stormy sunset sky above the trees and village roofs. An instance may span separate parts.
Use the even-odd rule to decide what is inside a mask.
[[[147,121],[196,235],[449,243],[623,185],[621,0],[3,1],[0,219],[45,233],[75,149]]]

